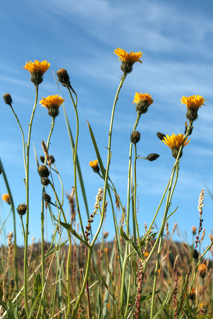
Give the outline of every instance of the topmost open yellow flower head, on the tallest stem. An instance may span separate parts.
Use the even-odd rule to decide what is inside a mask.
[[[143,53],[140,52],[126,52],[125,50],[122,50],[120,48],[117,48],[113,52],[117,56],[119,56],[118,60],[122,61],[121,64],[121,70],[123,73],[127,74],[132,71],[132,66],[135,62],[140,62],[140,58],[143,55]]]

